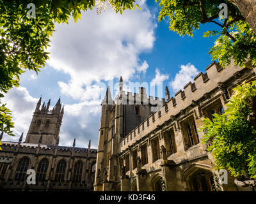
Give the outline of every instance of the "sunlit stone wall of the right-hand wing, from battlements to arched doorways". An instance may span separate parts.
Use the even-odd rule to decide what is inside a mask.
[[[195,189],[193,179],[206,178],[207,191],[213,191],[212,180],[218,178],[218,171],[214,170],[214,159],[206,151],[207,145],[202,143],[204,136],[202,127],[204,117],[211,117],[212,110],[220,112],[220,108],[227,108],[227,99],[232,95],[232,89],[245,80],[255,79],[252,69],[243,69],[231,64],[222,69],[216,62],[212,62],[206,73],[200,73],[189,82],[184,91],[175,94],[164,103],[159,112],[155,112],[142,124],[121,140],[120,160],[130,168],[122,173],[120,180],[122,191],[161,191],[161,185],[166,191],[202,191],[202,185]],[[209,116],[210,115],[210,116]],[[198,143],[187,145],[188,121],[194,120],[197,129]],[[168,153],[168,136],[173,134],[175,152]],[[195,134],[194,134],[195,135]],[[166,138],[165,138],[166,136]],[[158,140],[160,157],[154,159],[153,141]],[[187,140],[187,141],[186,141]],[[169,143],[169,144],[168,144]],[[134,163],[132,152],[137,151],[142,157],[141,147],[147,145],[147,163],[139,165],[139,159]],[[162,148],[163,147],[163,148]],[[163,149],[166,150],[163,150]],[[162,151],[163,150],[163,151]],[[167,154],[164,156],[163,152]],[[122,165],[122,164],[121,164]],[[135,166],[134,166],[135,165]],[[136,168],[140,166],[140,168]],[[129,170],[130,169],[130,170]],[[204,176],[205,175],[205,176]],[[161,180],[161,181],[160,181]],[[160,182],[159,182],[160,181]],[[128,186],[127,186],[128,185]],[[234,178],[228,173],[228,184],[220,187],[221,191],[250,191],[250,188],[237,187]]]

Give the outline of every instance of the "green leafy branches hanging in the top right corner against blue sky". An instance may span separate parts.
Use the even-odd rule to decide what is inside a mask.
[[[170,18],[170,31],[180,36],[193,36],[201,24],[211,23],[220,27],[204,33],[204,37],[216,35],[218,39],[209,51],[213,60],[225,67],[234,64],[245,66],[250,60],[256,66],[256,35],[237,6],[227,0],[156,0],[161,11],[158,20]],[[228,6],[228,18],[219,18],[220,4]]]

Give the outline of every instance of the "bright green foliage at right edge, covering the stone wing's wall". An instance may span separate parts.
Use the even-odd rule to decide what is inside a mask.
[[[234,89],[222,115],[204,119],[204,142],[211,141],[216,169],[226,168],[234,177],[256,179],[256,81]]]

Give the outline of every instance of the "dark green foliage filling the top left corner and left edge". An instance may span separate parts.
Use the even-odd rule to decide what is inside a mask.
[[[106,2],[116,13],[138,6],[135,0],[98,0],[97,4]],[[35,4],[35,18],[27,16],[29,3]],[[18,87],[24,71],[38,73],[44,68],[49,59],[45,50],[54,32],[54,23],[68,24],[70,18],[76,22],[81,18],[81,11],[92,10],[94,6],[94,0],[0,0],[0,91],[7,93],[12,87]],[[1,131],[12,133],[11,119],[8,108],[1,105]]]

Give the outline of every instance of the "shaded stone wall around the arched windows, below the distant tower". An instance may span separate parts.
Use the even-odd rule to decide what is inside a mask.
[[[2,142],[0,152],[1,191],[92,191],[93,166],[96,163],[96,149],[49,146],[33,143]],[[20,159],[29,159],[28,169],[38,171],[38,164],[47,159],[48,166],[44,180],[36,179],[36,184],[28,185],[25,179],[15,178]],[[59,161],[67,163],[63,181],[56,181],[56,168]],[[83,163],[81,180],[74,182],[74,166]],[[2,168],[6,166],[6,168]],[[28,176],[28,175],[26,175]]]

